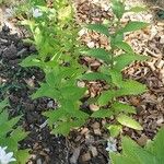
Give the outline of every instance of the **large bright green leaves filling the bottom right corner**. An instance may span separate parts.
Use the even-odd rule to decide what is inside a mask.
[[[160,129],[154,140],[148,141],[144,148],[139,147],[128,137],[122,138],[122,152],[110,153],[113,164],[163,164],[164,129]]]

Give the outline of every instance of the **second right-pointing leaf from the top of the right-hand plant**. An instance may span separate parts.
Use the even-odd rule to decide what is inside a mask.
[[[127,33],[127,32],[134,32],[142,28],[145,28],[149,25],[149,23],[145,22],[129,22],[124,28],[120,30],[119,33]]]

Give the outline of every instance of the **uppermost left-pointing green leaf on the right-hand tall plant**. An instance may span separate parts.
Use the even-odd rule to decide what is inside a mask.
[[[104,34],[106,36],[109,36],[108,28],[103,24],[89,24],[86,26],[86,28],[98,32],[98,33]]]

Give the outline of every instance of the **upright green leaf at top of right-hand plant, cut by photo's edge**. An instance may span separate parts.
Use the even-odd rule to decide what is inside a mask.
[[[121,19],[125,13],[125,4],[120,0],[112,0],[112,10],[117,19]]]

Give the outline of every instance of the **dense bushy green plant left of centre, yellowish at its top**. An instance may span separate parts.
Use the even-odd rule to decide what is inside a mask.
[[[33,34],[28,39],[37,48],[37,55],[25,58],[21,66],[39,67],[45,72],[45,82],[32,98],[50,97],[58,108],[44,113],[52,133],[67,136],[72,128],[82,126],[87,114],[80,110],[80,98],[86,89],[78,87],[77,77],[83,69],[78,63],[78,28],[73,22],[73,8],[68,0],[55,1],[54,8],[32,4],[36,15],[23,21]]]

